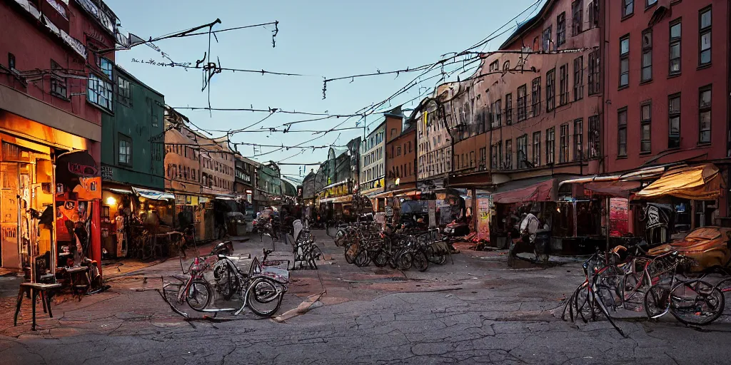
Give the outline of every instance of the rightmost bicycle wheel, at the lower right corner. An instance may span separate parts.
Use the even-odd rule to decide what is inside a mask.
[[[721,290],[702,280],[679,283],[670,291],[670,313],[686,325],[712,323],[721,316],[725,305]]]

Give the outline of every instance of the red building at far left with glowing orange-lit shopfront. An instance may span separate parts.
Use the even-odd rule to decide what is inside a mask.
[[[117,21],[101,0],[0,1],[2,266],[45,253],[48,269],[65,266],[57,253],[75,245],[76,223],[89,231],[86,255],[101,260],[102,113],[113,112]],[[29,208],[53,210],[55,229]]]

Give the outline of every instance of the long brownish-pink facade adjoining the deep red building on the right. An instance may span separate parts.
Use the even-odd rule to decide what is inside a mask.
[[[597,1],[547,1],[460,83],[447,105],[450,186],[510,188],[600,172],[599,9]]]

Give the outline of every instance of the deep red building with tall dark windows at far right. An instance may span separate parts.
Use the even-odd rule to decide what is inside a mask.
[[[680,162],[727,169],[729,5],[606,1],[605,172]],[[725,193],[720,200],[716,214],[727,216]]]

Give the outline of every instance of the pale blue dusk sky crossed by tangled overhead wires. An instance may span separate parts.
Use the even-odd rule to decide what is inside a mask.
[[[322,99],[323,77],[343,77],[352,74],[388,72],[406,67],[431,64],[450,52],[459,52],[480,42],[510,18],[525,12],[518,21],[537,12],[536,0],[461,0],[444,1],[372,0],[372,1],[192,1],[192,0],[108,0],[118,15],[122,31],[143,39],[159,37],[186,28],[210,23],[216,18],[221,24],[213,30],[232,28],[279,20],[276,47],[272,47],[274,26],[247,28],[217,34],[211,42],[211,59],[219,59],[221,67],[236,69],[265,69],[270,72],[305,74],[303,77],[227,72],[216,74],[211,82],[211,106],[214,108],[249,108],[296,110],[352,114],[363,107],[378,103],[403,88],[417,76],[412,72],[376,77],[341,80],[327,84],[327,99]],[[516,22],[503,28],[514,29]],[[511,33],[489,42],[477,50],[494,50]],[[208,36],[166,39],[156,45],[177,63],[192,62],[208,51]],[[202,70],[188,70],[139,64],[132,61],[166,61],[160,53],[145,45],[116,53],[116,61],[147,85],[164,94],[171,107],[207,107],[208,92],[202,92]],[[477,66],[476,64],[472,66]],[[458,69],[452,66],[449,70]],[[461,70],[460,70],[461,72]],[[460,72],[452,74],[456,79]],[[471,72],[463,74],[462,78]],[[425,75],[439,74],[439,70]],[[385,107],[396,107],[433,87],[438,78],[423,82],[398,96]],[[352,82],[351,82],[352,81]],[[407,103],[412,108],[417,101]],[[198,127],[209,130],[243,128],[266,117],[266,113],[180,110]],[[257,126],[279,127],[283,123],[310,119],[306,115],[276,113]],[[376,115],[366,121],[375,120]],[[300,123],[291,130],[327,130],[343,122],[332,118]],[[357,118],[340,128],[354,127]],[[362,124],[360,124],[362,126]],[[374,127],[374,126],[371,126]],[[214,137],[224,133],[213,132]],[[305,146],[344,145],[349,139],[363,135],[363,130],[311,133],[239,133],[232,142],[262,145],[298,145],[318,137]],[[257,161],[286,163],[321,162],[327,149],[276,150],[274,147],[239,146],[246,157]],[[297,155],[298,153],[301,154]],[[283,166],[285,174],[298,174],[301,166]],[[317,166],[307,167],[317,169]]]

